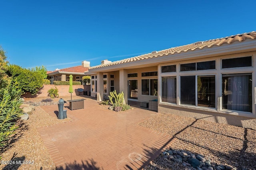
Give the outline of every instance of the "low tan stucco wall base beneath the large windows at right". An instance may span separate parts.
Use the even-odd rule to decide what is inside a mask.
[[[244,128],[256,129],[256,119],[248,117],[164,105],[158,105],[158,112],[193,117],[195,119],[202,119],[205,121],[229,124]]]

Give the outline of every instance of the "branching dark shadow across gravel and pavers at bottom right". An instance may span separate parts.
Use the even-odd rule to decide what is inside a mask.
[[[146,158],[148,158],[148,161],[144,161],[143,159],[139,160],[140,162],[143,163],[142,166],[138,167],[139,164],[137,164],[136,162],[129,162],[128,164],[126,164],[126,166],[124,167],[124,169],[131,169],[129,168],[129,164],[132,164],[134,166],[136,166],[138,169],[143,169],[146,166],[148,166],[148,164],[150,164],[150,160],[154,160],[156,159],[159,154],[161,152],[164,151],[164,149],[166,149],[167,147],[171,147],[168,146],[168,143],[170,143],[172,140],[176,140],[177,143],[185,143],[186,145],[190,145],[191,147],[196,146],[201,148],[202,150],[208,150],[210,153],[212,153],[214,156],[220,158],[220,162],[222,162],[222,164],[228,164],[232,167],[236,167],[237,169],[243,169],[243,168],[247,168],[248,170],[255,170],[256,169],[256,131],[252,130],[252,129],[247,129],[244,128],[244,139],[239,139],[236,137],[232,137],[229,135],[224,135],[222,133],[218,133],[215,131],[211,131],[211,130],[207,130],[207,129],[202,129],[202,128],[198,128],[195,125],[195,123],[198,121],[199,119],[196,119],[194,122],[192,122],[190,125],[187,125],[186,127],[184,127],[184,129],[178,131],[172,138],[170,138],[165,145],[161,146],[160,149],[157,149],[159,146],[151,146],[151,147],[147,147],[147,149],[144,149],[143,151],[143,156],[145,156]],[[188,141],[187,139],[183,138],[181,134],[182,132],[184,132],[185,130],[190,130],[189,128],[197,128],[200,129],[201,131],[206,131],[206,133],[215,133],[216,135],[224,135],[225,137],[228,138],[232,138],[232,139],[236,139],[238,141],[240,141],[240,143],[242,143],[242,149],[237,150],[237,151],[229,151],[226,153],[223,152],[219,152],[218,148],[216,149],[211,149],[210,147],[207,147],[207,145],[202,145],[202,143],[198,143],[196,140],[194,141]],[[249,137],[248,137],[248,133],[250,133]],[[161,139],[159,139],[161,140]],[[204,139],[201,139],[204,140]],[[156,142],[157,145],[157,142]],[[175,148],[173,148],[175,149]],[[193,152],[191,150],[187,150],[190,152]],[[204,153],[195,153],[195,154],[202,154],[204,156]],[[157,159],[161,159],[161,162],[159,160],[153,161],[154,162],[154,166],[151,165],[150,169],[156,169],[156,170],[160,170],[160,169],[165,169],[165,168],[174,168],[172,167],[172,160],[166,160],[163,158],[157,158]],[[180,166],[182,166],[180,164]],[[147,169],[147,168],[146,168]],[[174,168],[175,169],[175,168]]]

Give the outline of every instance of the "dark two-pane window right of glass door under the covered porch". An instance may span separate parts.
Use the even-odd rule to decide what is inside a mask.
[[[142,95],[157,96],[157,79],[141,80]]]

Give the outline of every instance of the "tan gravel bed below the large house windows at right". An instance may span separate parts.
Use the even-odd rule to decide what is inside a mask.
[[[170,146],[172,149],[202,154],[206,160],[238,170],[256,169],[255,130],[162,113],[140,125],[176,137]],[[176,164],[171,160],[156,158],[145,169],[187,169],[181,165],[177,168]]]

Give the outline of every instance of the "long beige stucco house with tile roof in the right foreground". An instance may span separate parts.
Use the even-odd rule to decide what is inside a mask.
[[[256,129],[256,32],[103,63],[89,68],[101,101],[158,100],[158,112]]]

